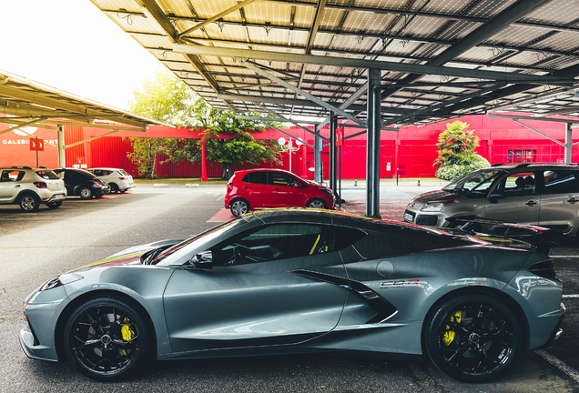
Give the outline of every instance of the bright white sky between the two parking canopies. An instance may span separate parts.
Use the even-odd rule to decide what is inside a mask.
[[[160,65],[90,0],[0,0],[0,70],[127,109]]]

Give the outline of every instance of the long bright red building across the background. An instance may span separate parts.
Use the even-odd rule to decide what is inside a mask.
[[[460,119],[471,125],[470,129],[481,138],[481,146],[477,152],[487,158],[491,164],[496,163],[520,163],[520,162],[557,162],[564,157],[564,147],[553,141],[520,126],[511,119],[495,118],[488,116],[465,116]],[[437,156],[438,148],[435,146],[439,134],[446,129],[447,122],[422,127],[403,127],[400,131],[382,131],[381,135],[381,177],[396,175],[396,169],[401,177],[432,177],[436,167],[432,162]],[[544,134],[564,141],[564,124],[547,123],[543,121],[528,121],[527,124],[543,132]],[[0,125],[0,133],[8,126]],[[78,126],[65,127],[65,144],[85,140],[103,134],[102,129]],[[54,131],[35,127],[27,127],[26,132],[41,137],[48,143],[56,144]],[[292,127],[290,134],[302,138],[313,145],[313,136],[299,127]],[[346,126],[345,136],[360,132],[359,128]],[[328,136],[329,129],[322,129],[322,135]],[[164,126],[150,126],[146,133],[119,131],[115,136],[104,136],[94,139],[85,144],[66,148],[66,166],[81,165],[86,167],[111,166],[122,167],[131,175],[138,176],[137,167],[127,158],[127,152],[131,151],[128,136],[147,137],[195,137],[197,132],[191,132],[186,128],[168,128]],[[278,139],[281,135],[276,130],[268,130],[255,133],[258,139]],[[574,140],[575,141],[575,140]],[[19,165],[34,166],[36,164],[36,152],[30,150],[30,136],[11,131],[0,134],[0,166]],[[324,162],[324,178],[328,177],[328,153],[325,147],[322,152]],[[572,161],[579,159],[579,146],[574,146]],[[56,148],[46,145],[45,150],[38,152],[39,165],[56,167]],[[163,161],[165,157],[158,160]],[[281,163],[270,163],[258,166],[234,166],[234,170],[250,167],[280,167],[290,169],[299,176],[310,177],[312,172],[308,170],[313,166],[314,153],[309,146],[302,145],[300,150],[293,153],[290,166],[289,153],[284,153]],[[341,146],[341,177],[342,178],[365,178],[366,176],[366,136],[356,136],[344,141]],[[208,163],[208,176],[221,176],[222,167],[219,163]],[[200,177],[200,164],[157,164],[159,176],[167,177]],[[339,171],[340,173],[340,171]]]

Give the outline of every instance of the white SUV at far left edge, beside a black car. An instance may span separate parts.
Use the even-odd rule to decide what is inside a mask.
[[[65,198],[65,182],[50,169],[0,166],[0,205],[20,205],[25,212],[35,212],[41,203],[60,207]]]

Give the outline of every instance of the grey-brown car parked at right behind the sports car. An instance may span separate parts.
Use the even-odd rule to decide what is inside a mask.
[[[574,237],[578,202],[579,166],[494,165],[462,176],[440,191],[416,196],[406,207],[404,221],[449,227],[457,223],[451,224],[448,217],[481,217],[549,227]]]

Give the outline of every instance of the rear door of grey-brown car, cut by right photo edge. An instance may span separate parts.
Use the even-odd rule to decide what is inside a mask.
[[[579,217],[579,192],[577,171],[543,170],[539,180],[541,211],[539,225],[563,232],[574,227]]]

